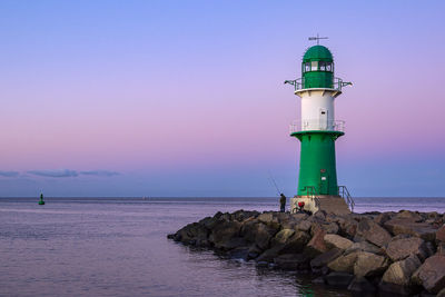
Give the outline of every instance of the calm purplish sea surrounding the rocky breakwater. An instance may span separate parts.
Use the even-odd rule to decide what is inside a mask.
[[[355,212],[445,211],[445,198],[355,198]],[[278,198],[0,198],[0,296],[352,296],[308,275],[167,239]]]

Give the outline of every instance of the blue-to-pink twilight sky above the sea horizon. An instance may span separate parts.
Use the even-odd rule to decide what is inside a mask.
[[[308,37],[338,184],[445,197],[444,1],[0,1],[0,197],[296,195]]]

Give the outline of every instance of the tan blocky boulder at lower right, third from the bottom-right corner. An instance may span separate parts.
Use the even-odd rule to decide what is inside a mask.
[[[374,277],[382,275],[388,266],[389,261],[384,256],[359,251],[357,260],[354,264],[354,275]]]

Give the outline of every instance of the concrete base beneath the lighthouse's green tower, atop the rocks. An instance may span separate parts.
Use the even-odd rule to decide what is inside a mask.
[[[345,199],[340,196],[319,195],[319,196],[297,196],[290,198],[290,212],[298,212],[298,202],[304,202],[303,209],[313,214],[324,210],[327,214],[347,215],[350,209]]]

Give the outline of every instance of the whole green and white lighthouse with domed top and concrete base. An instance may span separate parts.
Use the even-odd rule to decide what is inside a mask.
[[[345,135],[345,122],[335,118],[335,100],[352,83],[334,76],[333,55],[319,39],[309,38],[317,44],[303,57],[301,77],[285,81],[301,99],[300,119],[290,125],[290,136],[301,143],[298,189],[290,210],[348,214],[354,200],[347,188],[337,184],[335,141]]]

